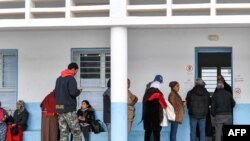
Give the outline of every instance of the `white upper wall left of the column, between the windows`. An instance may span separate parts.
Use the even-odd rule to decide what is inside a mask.
[[[0,49],[18,49],[18,99],[41,102],[71,61],[71,48],[110,46],[110,32],[98,30],[2,31]]]

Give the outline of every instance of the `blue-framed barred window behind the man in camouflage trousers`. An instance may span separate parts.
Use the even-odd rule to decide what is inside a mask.
[[[102,110],[102,94],[110,78],[110,49],[72,49],[72,61],[79,65],[76,80],[83,89],[78,97],[78,106],[86,99],[96,110]]]

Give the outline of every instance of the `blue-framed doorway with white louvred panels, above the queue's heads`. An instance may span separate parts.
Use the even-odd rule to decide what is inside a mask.
[[[196,47],[195,68],[195,78],[202,78],[210,93],[216,88],[218,75],[224,76],[225,81],[233,86],[232,48]]]

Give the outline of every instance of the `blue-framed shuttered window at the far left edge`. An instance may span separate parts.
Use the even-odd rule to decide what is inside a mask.
[[[5,109],[17,101],[17,50],[0,50],[0,100]]]

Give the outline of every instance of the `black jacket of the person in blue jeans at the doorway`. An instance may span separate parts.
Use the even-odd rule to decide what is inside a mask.
[[[196,119],[206,118],[210,94],[204,86],[197,85],[187,93],[186,97],[189,116]]]

